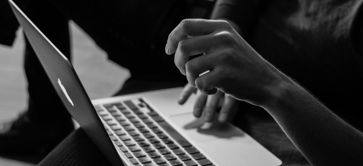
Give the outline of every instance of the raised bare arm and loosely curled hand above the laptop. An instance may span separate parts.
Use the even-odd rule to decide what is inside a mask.
[[[201,93],[221,91],[264,108],[312,165],[363,162],[363,133],[262,58],[227,21],[183,20],[165,51]],[[228,115],[221,110],[218,120]]]

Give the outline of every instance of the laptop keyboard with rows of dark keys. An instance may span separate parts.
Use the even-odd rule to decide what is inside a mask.
[[[213,166],[142,99],[95,105],[110,138],[135,166]],[[147,110],[147,111],[141,111]]]

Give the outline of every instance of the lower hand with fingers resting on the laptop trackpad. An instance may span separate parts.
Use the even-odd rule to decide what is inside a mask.
[[[237,112],[238,103],[233,97],[219,90],[216,94],[207,96],[189,84],[186,84],[181,92],[178,100],[179,104],[184,104],[188,97],[195,92],[197,92],[197,100],[193,109],[195,117],[203,115],[205,121],[211,122],[217,116],[218,121],[225,123]]]

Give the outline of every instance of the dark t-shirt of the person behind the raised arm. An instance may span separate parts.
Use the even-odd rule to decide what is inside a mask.
[[[214,19],[227,18],[269,62],[363,129],[363,0],[221,0]]]

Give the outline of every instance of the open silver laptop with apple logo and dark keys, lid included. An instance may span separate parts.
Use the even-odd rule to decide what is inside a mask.
[[[8,1],[66,109],[111,165],[282,164],[239,128],[195,118],[195,96],[177,103],[181,87],[91,101],[68,59]]]

